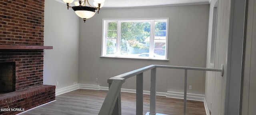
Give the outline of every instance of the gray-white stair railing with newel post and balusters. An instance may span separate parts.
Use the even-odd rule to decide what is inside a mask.
[[[156,115],[156,68],[184,69],[184,109],[183,114],[186,115],[186,99],[187,99],[187,73],[188,70],[199,71],[219,71],[221,76],[224,73],[223,64],[221,69],[203,68],[203,67],[183,67],[170,65],[149,65],[136,69],[108,79],[109,90],[102,104],[98,115],[121,115],[121,87],[126,79],[136,75],[136,115],[143,114],[143,72],[151,70],[150,83],[150,113]]]

